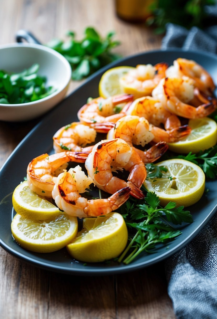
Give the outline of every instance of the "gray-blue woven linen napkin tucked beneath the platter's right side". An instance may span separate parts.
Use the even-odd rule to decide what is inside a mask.
[[[162,49],[217,53],[217,6],[206,11],[216,25],[187,30],[168,23]],[[178,319],[217,319],[217,213],[184,249],[166,260],[165,270]]]

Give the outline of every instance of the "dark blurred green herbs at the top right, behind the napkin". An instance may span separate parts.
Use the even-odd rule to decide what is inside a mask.
[[[216,4],[215,0],[155,0],[150,6],[152,16],[146,20],[147,25],[156,26],[155,32],[165,32],[168,22],[184,26],[204,27],[209,23],[206,20],[206,5]]]

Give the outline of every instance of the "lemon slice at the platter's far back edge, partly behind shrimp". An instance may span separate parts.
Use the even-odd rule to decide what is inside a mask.
[[[131,69],[134,68],[130,66],[117,66],[116,68],[107,70],[100,79],[99,95],[106,99],[109,96],[124,93],[119,79]]]

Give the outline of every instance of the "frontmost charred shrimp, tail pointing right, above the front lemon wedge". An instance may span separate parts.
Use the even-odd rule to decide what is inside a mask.
[[[130,188],[118,190],[106,199],[91,199],[81,197],[86,188],[93,182],[81,171],[81,167],[70,168],[68,172],[61,173],[57,177],[52,196],[57,206],[68,215],[94,217],[106,215],[116,210],[129,198]]]

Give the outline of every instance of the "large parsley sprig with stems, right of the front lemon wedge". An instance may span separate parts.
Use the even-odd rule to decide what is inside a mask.
[[[179,236],[181,231],[175,230],[169,222],[174,225],[181,225],[182,222],[192,223],[192,215],[189,211],[183,210],[184,206],[176,207],[176,203],[169,202],[163,208],[159,204],[159,197],[155,193],[148,192],[143,204],[127,201],[122,205],[122,216],[129,229],[129,245],[118,262],[129,264],[141,252],[151,253],[156,244],[166,244]],[[164,219],[164,214],[167,220]],[[129,255],[126,256],[128,252]]]

